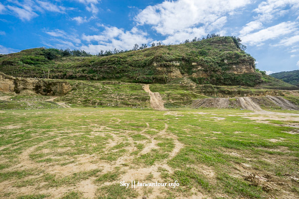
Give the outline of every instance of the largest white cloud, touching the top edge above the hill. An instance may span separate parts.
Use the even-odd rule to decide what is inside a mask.
[[[167,36],[164,40],[166,43],[172,43],[220,30],[227,21],[226,14],[250,2],[251,0],[163,1],[146,7],[134,20],[138,25],[151,25],[157,33]]]

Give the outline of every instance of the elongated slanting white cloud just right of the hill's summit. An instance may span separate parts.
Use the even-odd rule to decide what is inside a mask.
[[[260,45],[262,42],[269,39],[276,39],[280,36],[292,33],[296,30],[298,24],[296,22],[282,22],[280,24],[262,29],[258,32],[250,33],[243,36],[241,39],[249,45]]]

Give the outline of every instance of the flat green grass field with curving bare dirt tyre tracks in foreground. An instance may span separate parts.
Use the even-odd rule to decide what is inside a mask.
[[[0,111],[0,198],[143,196],[298,199],[299,111]]]

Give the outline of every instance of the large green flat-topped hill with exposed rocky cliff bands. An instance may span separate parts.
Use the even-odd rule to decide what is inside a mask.
[[[196,84],[292,87],[255,69],[255,59],[235,37],[213,37],[179,45],[159,45],[110,56],[85,51],[65,53],[34,48],[0,55],[0,72],[14,77],[109,80],[167,84],[189,79]]]

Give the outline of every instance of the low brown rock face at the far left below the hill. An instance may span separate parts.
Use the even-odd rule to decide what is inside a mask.
[[[37,78],[14,78],[0,72],[0,91],[20,93],[33,91],[47,96],[62,96],[72,89],[65,81],[52,81]]]

